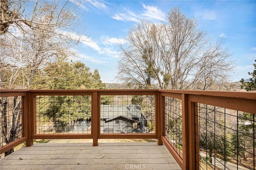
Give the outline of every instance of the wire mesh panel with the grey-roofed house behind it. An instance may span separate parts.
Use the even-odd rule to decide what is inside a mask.
[[[154,134],[154,95],[107,95],[100,101],[101,134]]]

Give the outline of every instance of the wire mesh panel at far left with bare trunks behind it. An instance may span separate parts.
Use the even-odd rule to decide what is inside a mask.
[[[0,147],[23,137],[22,96],[0,97]]]

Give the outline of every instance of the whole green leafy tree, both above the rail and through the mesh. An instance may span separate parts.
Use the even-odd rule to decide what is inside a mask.
[[[50,77],[41,80],[48,86],[48,89],[104,89],[105,83],[100,80],[100,74],[95,69],[90,71],[81,61],[68,62],[58,60],[49,65],[44,72],[50,73]],[[40,102],[42,100],[42,102]],[[46,121],[54,123],[55,131],[63,130],[74,119],[88,120],[91,117],[91,97],[85,96],[50,96],[38,99],[41,103],[38,114]],[[108,99],[104,99],[104,104],[109,104]],[[43,109],[48,108],[48,109]],[[56,132],[57,132],[56,131]]]

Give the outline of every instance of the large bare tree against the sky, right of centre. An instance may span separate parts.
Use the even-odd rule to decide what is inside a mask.
[[[225,80],[234,63],[222,40],[210,43],[196,20],[178,8],[168,24],[142,21],[122,46],[118,79],[139,88],[202,89]]]

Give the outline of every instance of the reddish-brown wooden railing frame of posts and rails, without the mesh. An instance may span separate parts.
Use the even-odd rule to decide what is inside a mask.
[[[90,95],[92,96],[92,132],[91,134],[36,134],[35,107],[37,95]],[[100,134],[100,96],[101,95],[154,95],[155,96],[155,134]],[[23,137],[6,144],[1,153],[26,141],[26,146],[33,144],[33,139],[92,138],[93,146],[103,138],[156,138],[158,144],[165,144],[182,169],[199,169],[199,139],[197,103],[223,107],[256,114],[256,92],[228,91],[187,91],[187,90],[1,90],[0,97],[23,96],[24,131]],[[182,100],[182,156],[178,155],[165,136],[165,97]]]

